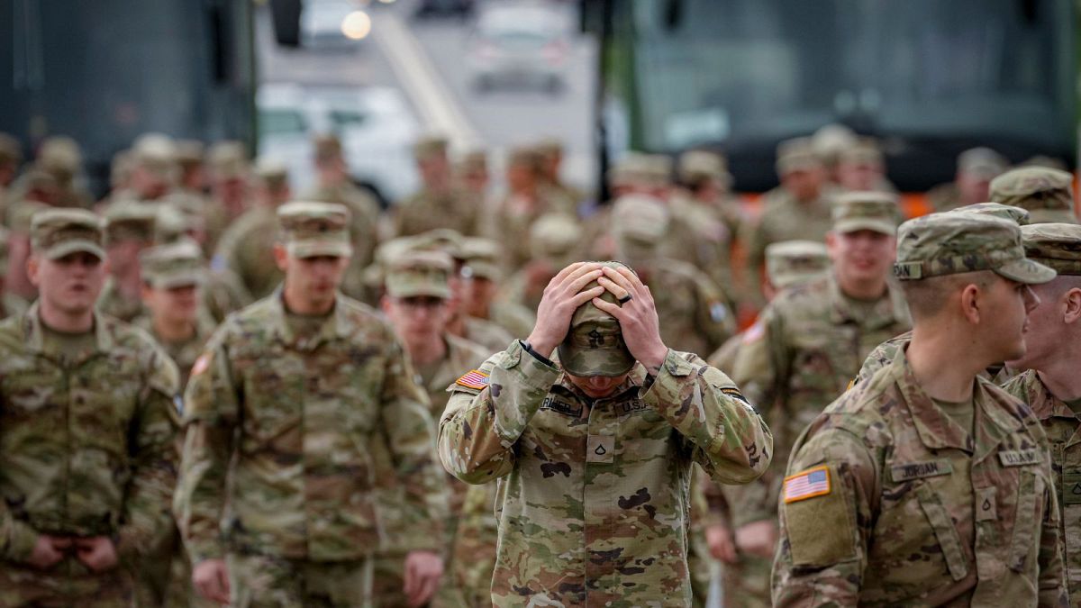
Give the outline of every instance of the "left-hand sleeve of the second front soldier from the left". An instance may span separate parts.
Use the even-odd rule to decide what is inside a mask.
[[[225,556],[222,511],[240,407],[231,367],[219,330],[196,360],[185,393],[184,451],[173,511],[192,564]]]

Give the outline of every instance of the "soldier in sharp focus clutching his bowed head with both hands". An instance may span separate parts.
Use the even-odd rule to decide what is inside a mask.
[[[499,479],[499,607],[689,605],[691,464],[745,484],[773,453],[726,375],[665,346],[651,290],[618,263],[561,270],[529,340],[452,389],[443,466]]]

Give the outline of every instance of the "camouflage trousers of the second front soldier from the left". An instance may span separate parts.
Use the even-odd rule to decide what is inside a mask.
[[[232,608],[370,608],[372,560],[308,561],[229,554]]]

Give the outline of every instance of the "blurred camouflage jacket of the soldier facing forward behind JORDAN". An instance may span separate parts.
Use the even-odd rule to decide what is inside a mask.
[[[733,525],[774,519],[792,442],[849,386],[864,358],[911,327],[900,290],[862,317],[832,276],[783,290],[744,335],[732,378],[774,432],[776,468],[755,484],[725,488]]]

